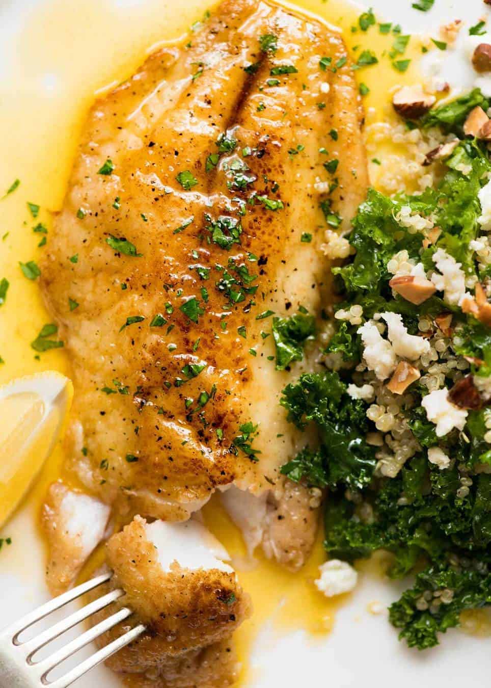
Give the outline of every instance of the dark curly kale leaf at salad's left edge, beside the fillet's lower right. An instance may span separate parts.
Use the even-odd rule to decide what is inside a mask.
[[[360,488],[370,482],[376,462],[373,447],[364,439],[367,406],[346,394],[346,385],[337,373],[302,375],[297,383],[285,387],[281,405],[298,428],[304,429],[310,422],[316,425],[326,484]]]

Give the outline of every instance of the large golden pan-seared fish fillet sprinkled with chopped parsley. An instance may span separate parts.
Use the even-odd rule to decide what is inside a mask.
[[[304,441],[258,316],[328,303],[320,202],[347,227],[364,197],[360,117],[340,34],[255,0],[224,2],[91,110],[41,284],[73,364],[69,471],[123,519],[186,519],[230,482],[260,494]],[[241,228],[228,248],[221,216]],[[233,443],[246,422],[257,461]]]

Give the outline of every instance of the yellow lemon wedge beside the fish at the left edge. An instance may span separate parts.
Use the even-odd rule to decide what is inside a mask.
[[[0,526],[54,449],[73,394],[71,380],[51,371],[0,387]]]

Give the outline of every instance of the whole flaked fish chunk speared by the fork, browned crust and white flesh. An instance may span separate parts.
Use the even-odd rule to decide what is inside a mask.
[[[122,588],[126,594],[118,605],[134,614],[102,636],[100,644],[137,623],[147,627],[137,641],[107,660],[109,667],[141,674],[158,686],[228,685],[220,666],[215,669],[221,684],[197,678],[188,683],[179,673],[191,678],[191,667],[210,674],[210,656],[221,653],[223,643],[230,649],[232,632],[250,615],[249,596],[217,539],[195,520],[147,524],[136,516],[106,547],[107,566],[113,570],[107,588]],[[113,612],[113,607],[101,612],[94,623]],[[233,673],[232,667],[234,663],[229,667]],[[174,678],[182,682],[174,684]]]

